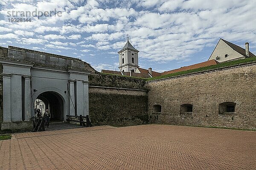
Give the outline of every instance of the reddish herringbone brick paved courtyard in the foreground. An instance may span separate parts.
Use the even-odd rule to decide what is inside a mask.
[[[256,132],[142,125],[19,133],[0,141],[0,170],[256,169]]]

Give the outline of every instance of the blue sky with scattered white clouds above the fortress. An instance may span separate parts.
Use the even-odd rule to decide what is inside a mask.
[[[9,22],[17,11],[55,10],[61,13]],[[118,70],[117,51],[129,35],[140,67],[167,71],[207,61],[220,38],[243,48],[249,42],[256,54],[255,16],[256,0],[0,0],[0,46]]]

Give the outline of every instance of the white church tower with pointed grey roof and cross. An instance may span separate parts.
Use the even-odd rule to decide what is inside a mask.
[[[129,37],[127,37],[127,42],[125,46],[118,52],[119,54],[119,69],[120,71],[133,72],[136,68],[139,67],[139,58],[138,58],[138,50],[136,50],[131,43],[129,42]]]

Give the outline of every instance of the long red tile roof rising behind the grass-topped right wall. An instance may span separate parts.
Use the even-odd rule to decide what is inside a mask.
[[[211,59],[209,61],[200,62],[200,63],[194,64],[194,65],[189,65],[189,66],[177,68],[175,70],[165,71],[165,72],[161,73],[161,75],[177,73],[177,72],[180,72],[180,71],[192,70],[192,69],[195,69],[195,68],[201,68],[201,67],[205,67],[205,66],[209,66],[209,65],[216,65],[218,63],[219,62],[216,61],[215,59]]]

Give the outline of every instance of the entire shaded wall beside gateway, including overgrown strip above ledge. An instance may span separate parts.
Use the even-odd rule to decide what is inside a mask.
[[[148,122],[144,81],[108,74],[89,76],[89,115],[95,125],[130,126]],[[102,87],[104,86],[104,87]],[[131,89],[133,87],[133,89]]]

